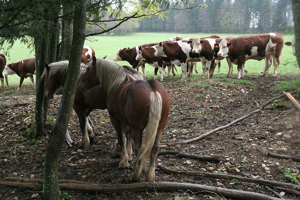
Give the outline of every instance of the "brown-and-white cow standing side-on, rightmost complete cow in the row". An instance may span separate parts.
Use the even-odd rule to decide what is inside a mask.
[[[283,37],[280,33],[240,36],[227,41],[222,40],[220,43],[216,43],[215,47],[219,47],[217,56],[228,57],[229,64],[238,65],[238,79],[244,77],[242,69],[245,61],[249,59],[259,61],[265,59],[265,69],[261,74],[261,76],[265,76],[273,58],[274,73],[272,76],[276,76],[282,53]]]

